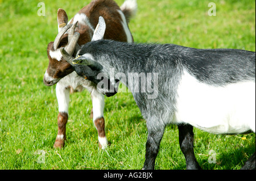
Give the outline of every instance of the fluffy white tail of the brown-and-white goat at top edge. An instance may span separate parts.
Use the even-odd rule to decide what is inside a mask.
[[[120,6],[123,14],[125,15],[127,23],[130,22],[130,19],[136,15],[137,12],[137,1],[136,0],[126,0],[122,6]]]

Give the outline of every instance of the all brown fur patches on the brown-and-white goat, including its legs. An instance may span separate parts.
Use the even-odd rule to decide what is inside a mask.
[[[89,5],[83,7],[78,13],[79,14],[85,14],[93,28],[96,28],[98,24],[98,18],[99,16],[102,16],[105,19],[106,23],[106,31],[104,35],[104,39],[111,39],[111,40],[116,40],[116,41],[127,41],[127,36],[125,33],[125,30],[123,30],[122,26],[122,18],[121,15],[118,13],[117,10],[121,10],[117,3],[115,3],[113,0],[93,0],[92,2],[89,3]],[[129,11],[129,10],[126,10]],[[127,16],[126,16],[127,15]],[[129,15],[127,12],[125,12],[125,18],[129,20]],[[128,21],[127,21],[128,22]],[[57,12],[57,23],[58,26],[63,24],[68,23],[68,15],[63,9],[59,9]],[[71,24],[75,23],[73,22],[73,18],[70,21]],[[60,27],[61,28],[61,27]],[[76,32],[80,33],[80,37],[78,40],[78,44],[84,45],[91,41],[92,35],[93,35],[93,30],[85,24],[78,23],[77,27],[75,29]],[[57,48],[60,47],[65,47],[68,44],[68,34],[64,34],[61,37],[60,44]],[[47,55],[49,59],[49,65],[47,68],[47,73],[49,77],[52,77],[54,79],[61,79],[65,77],[66,75],[72,73],[73,68],[72,66],[65,60],[60,60],[57,61],[56,59],[53,59],[51,56],[49,56],[49,51],[54,50],[53,49],[53,41],[51,41],[48,44],[47,47]],[[73,54],[73,57],[75,54]],[[53,85],[56,82],[47,82],[44,79],[44,83],[49,86]],[[78,87],[79,88],[79,87]],[[81,88],[81,87],[80,87]],[[81,89],[76,89],[77,90],[82,90]],[[68,86],[67,89],[70,89],[71,92],[76,91],[73,89],[73,87]],[[93,110],[91,112],[91,117],[93,117]],[[65,144],[65,139],[66,139],[66,124],[68,121],[68,113],[65,112],[59,112],[58,115],[58,133],[57,135],[63,134],[63,139],[60,137],[56,137],[56,141],[54,144],[54,148],[63,148]],[[105,120],[104,117],[100,117],[96,120],[94,120],[94,124],[97,128],[98,131],[98,136],[99,137],[105,137]],[[100,148],[102,147],[100,142],[99,142]]]

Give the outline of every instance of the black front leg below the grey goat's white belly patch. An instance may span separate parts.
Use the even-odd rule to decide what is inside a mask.
[[[179,128],[179,143],[180,149],[185,156],[186,165],[188,170],[199,170],[201,167],[196,161],[193,142],[194,134],[193,127],[190,124],[181,124],[178,125]]]

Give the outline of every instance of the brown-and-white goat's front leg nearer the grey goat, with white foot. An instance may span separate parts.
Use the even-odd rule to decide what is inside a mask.
[[[98,145],[101,149],[108,146],[108,140],[105,133],[105,120],[104,120],[104,95],[100,94],[96,89],[91,93],[93,104],[93,123],[98,131]]]

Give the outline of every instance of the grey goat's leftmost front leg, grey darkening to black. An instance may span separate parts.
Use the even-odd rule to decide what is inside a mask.
[[[146,142],[146,155],[143,170],[155,169],[155,159],[158,155],[160,142],[164,133],[164,128],[164,125],[155,125],[155,127],[152,128],[148,125],[147,121],[148,136]]]

